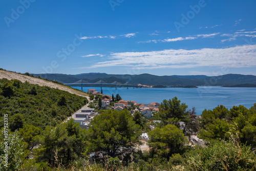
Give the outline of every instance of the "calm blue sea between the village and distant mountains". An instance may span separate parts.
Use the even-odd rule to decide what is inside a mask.
[[[81,90],[81,87],[73,87]],[[100,87],[83,87],[83,91],[95,89],[100,91]],[[161,103],[164,99],[172,99],[177,96],[181,102],[188,105],[188,109],[193,106],[197,114],[201,115],[204,109],[212,110],[218,104],[223,104],[226,108],[233,105],[244,105],[250,108],[256,103],[256,88],[222,88],[222,87],[199,87],[197,89],[185,88],[107,88],[103,87],[103,94],[119,94],[124,100],[134,100],[137,103],[148,104],[151,102]]]

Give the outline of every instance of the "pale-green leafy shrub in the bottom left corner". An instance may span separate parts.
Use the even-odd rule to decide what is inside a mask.
[[[8,135],[8,138],[6,138],[6,135]],[[23,163],[23,153],[24,144],[18,132],[9,132],[9,130],[2,129],[0,133],[0,169],[3,171],[19,170]]]

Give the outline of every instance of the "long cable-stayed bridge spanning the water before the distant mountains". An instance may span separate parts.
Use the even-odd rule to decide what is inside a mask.
[[[107,82],[105,82],[103,80],[99,80],[97,82],[88,82],[88,81],[82,80],[82,79],[80,79],[80,80],[78,80],[76,82],[73,82],[73,83],[65,83],[65,82],[59,81],[57,79],[54,79],[54,81],[58,81],[58,82],[60,82],[60,83],[62,83],[64,85],[67,85],[67,86],[69,86],[69,85],[81,85],[81,90],[82,90],[82,87],[83,87],[84,84],[99,84],[100,85],[100,90],[102,90],[102,85],[103,86],[104,85],[114,85],[116,87],[116,89],[117,89],[117,86],[126,86],[127,89],[128,89],[129,86],[133,87],[133,88],[135,88],[135,87],[138,88],[137,84],[130,84],[129,82],[120,83],[120,82],[114,81],[112,83],[107,83]]]

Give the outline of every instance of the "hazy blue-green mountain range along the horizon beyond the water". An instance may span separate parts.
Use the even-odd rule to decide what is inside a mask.
[[[40,74],[33,74],[39,76]],[[256,76],[241,74],[226,74],[221,76],[206,75],[171,75],[157,76],[151,74],[140,75],[118,75],[106,73],[84,73],[77,75],[67,74],[42,74],[42,78],[57,80],[64,83],[74,83],[80,79],[88,82],[103,80],[107,83],[117,81],[119,83],[129,82],[131,84],[163,85],[163,86],[234,86],[237,84],[256,84]]]

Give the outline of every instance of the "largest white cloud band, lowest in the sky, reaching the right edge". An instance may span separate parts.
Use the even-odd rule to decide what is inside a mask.
[[[149,52],[111,53],[108,61],[89,68],[127,66],[131,69],[196,68],[196,67],[255,67],[256,45],[220,49],[168,49]]]

